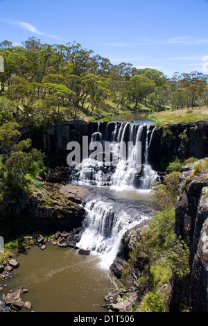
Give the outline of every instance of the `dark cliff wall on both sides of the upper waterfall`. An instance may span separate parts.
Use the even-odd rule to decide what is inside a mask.
[[[106,123],[99,124],[99,130],[104,136]],[[113,124],[112,124],[113,127]],[[109,127],[110,128],[110,127]],[[63,155],[67,164],[67,144],[78,141],[82,145],[82,137],[89,139],[98,130],[98,122],[88,123],[85,120],[70,120],[53,123],[43,130],[27,130],[24,137],[32,139],[33,147],[44,153]],[[166,164],[175,156],[180,160],[188,157],[201,159],[208,156],[208,125],[207,121],[169,123],[166,126],[156,126],[150,139],[149,160],[158,171],[166,168]]]

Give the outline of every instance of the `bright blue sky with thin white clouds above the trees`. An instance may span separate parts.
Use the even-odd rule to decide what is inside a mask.
[[[207,0],[0,0],[0,42],[76,41],[113,65],[207,73],[207,17]]]

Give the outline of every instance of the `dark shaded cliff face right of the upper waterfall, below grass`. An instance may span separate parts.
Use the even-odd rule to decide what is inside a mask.
[[[150,142],[149,160],[154,164],[168,163],[176,156],[180,160],[208,156],[206,121],[169,123],[155,127]]]

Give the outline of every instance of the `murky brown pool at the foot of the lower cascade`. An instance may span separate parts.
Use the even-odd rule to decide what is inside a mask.
[[[8,287],[4,293],[25,287],[28,293],[22,298],[32,303],[33,311],[107,311],[101,307],[105,304],[103,296],[115,286],[107,276],[110,273],[99,267],[98,255],[78,255],[71,248],[49,243],[45,250],[35,246],[24,254],[16,251],[14,258],[20,266],[12,273],[20,275],[5,281]]]

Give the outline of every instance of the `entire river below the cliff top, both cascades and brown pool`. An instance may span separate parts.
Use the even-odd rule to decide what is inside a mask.
[[[115,289],[112,280],[120,284],[110,273],[109,267],[119,250],[121,237],[126,230],[151,216],[151,209],[146,203],[153,196],[150,187],[157,173],[148,162],[148,145],[154,126],[152,121],[146,121],[146,115],[143,115],[145,120],[141,119],[141,114],[137,115],[135,120],[132,119],[135,121],[133,124],[117,125],[112,121],[105,130],[105,136],[113,137],[117,142],[119,139],[136,137],[144,145],[142,164],[146,174],[137,175],[139,183],[132,178],[132,162],[125,166],[121,162],[113,173],[103,172],[103,169],[95,169],[89,162],[82,162],[72,173],[71,182],[89,189],[82,204],[86,211],[85,230],[78,246],[90,249],[91,254],[78,255],[76,250],[60,248],[51,243],[45,250],[39,247],[25,253],[15,250],[14,258],[20,266],[12,274],[18,275],[3,282],[8,285],[4,293],[26,287],[28,293],[24,293],[23,300],[30,301],[33,311],[38,312],[106,311],[101,307],[105,304],[104,295]],[[99,130],[96,133],[104,137]],[[132,153],[135,153],[134,146]]]

